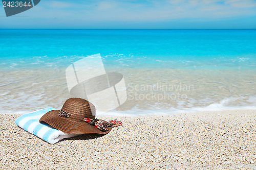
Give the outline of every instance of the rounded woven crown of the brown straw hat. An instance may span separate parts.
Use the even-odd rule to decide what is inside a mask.
[[[81,98],[68,99],[61,108],[71,114],[69,118],[83,121],[84,118],[95,119],[95,106],[87,100]]]

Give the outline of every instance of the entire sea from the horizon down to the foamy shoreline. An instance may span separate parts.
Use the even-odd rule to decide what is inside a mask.
[[[0,45],[1,113],[60,108],[65,69],[97,53],[125,79],[115,113],[256,106],[256,30],[0,30]]]

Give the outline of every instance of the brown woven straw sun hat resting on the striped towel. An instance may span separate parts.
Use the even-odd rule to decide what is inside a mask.
[[[60,116],[59,114],[65,114]],[[107,134],[111,131],[101,131],[95,126],[84,122],[84,118],[95,119],[95,106],[81,98],[70,98],[62,106],[61,110],[52,110],[44,114],[39,122],[47,123],[55,129],[69,134]]]

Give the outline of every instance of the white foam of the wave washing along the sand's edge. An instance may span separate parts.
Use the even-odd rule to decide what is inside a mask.
[[[32,102],[36,100],[38,96],[35,98],[32,98],[29,100],[29,102]],[[225,98],[222,101],[218,103],[212,103],[206,107],[193,107],[192,105],[189,106],[189,108],[185,107],[179,107],[179,108],[166,108],[166,109],[159,109],[154,106],[148,107],[147,109],[141,109],[137,106],[133,107],[130,110],[125,110],[125,111],[119,111],[119,110],[112,110],[109,112],[96,112],[96,115],[98,116],[150,116],[150,115],[173,115],[173,114],[180,114],[180,113],[193,113],[193,112],[206,112],[206,111],[223,111],[223,110],[256,110],[256,96],[250,96],[248,99],[246,99],[246,103],[241,103],[239,106],[238,105],[232,105],[234,102],[237,100],[241,100],[239,98]],[[45,106],[46,102],[41,101],[41,102],[36,102],[37,107],[40,106]],[[244,104],[244,105],[243,105]],[[50,107],[50,105],[49,105]],[[60,109],[60,103],[58,103],[58,107],[55,107],[57,109]],[[38,110],[42,109],[42,107],[38,107]],[[33,112],[32,108],[29,110],[5,110],[1,108],[0,113],[1,114],[25,114],[25,113],[30,113]]]

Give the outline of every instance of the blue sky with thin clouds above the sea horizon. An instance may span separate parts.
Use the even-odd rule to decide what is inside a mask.
[[[76,0],[41,2],[6,17],[10,29],[256,29],[256,0]]]

